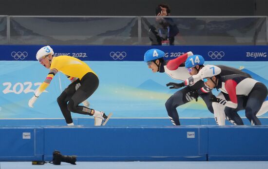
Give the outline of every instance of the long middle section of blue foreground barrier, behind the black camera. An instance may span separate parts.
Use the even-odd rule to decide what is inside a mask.
[[[57,149],[78,161],[205,161],[203,135],[202,126],[44,127],[44,159]]]

